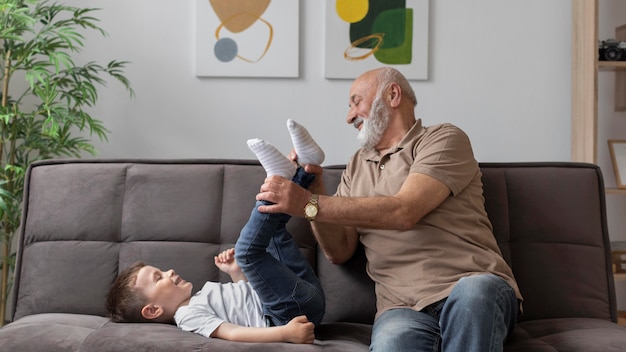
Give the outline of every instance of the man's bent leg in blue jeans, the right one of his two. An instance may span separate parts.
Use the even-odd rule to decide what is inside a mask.
[[[515,292],[500,277],[484,274],[462,278],[441,311],[443,350],[502,351],[518,310]]]

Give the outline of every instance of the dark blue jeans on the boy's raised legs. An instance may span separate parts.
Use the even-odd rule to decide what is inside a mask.
[[[299,167],[292,181],[307,188],[315,175]],[[235,259],[273,325],[306,315],[318,326],[325,311],[324,291],[313,269],[287,232],[287,214],[260,213],[257,201],[235,244]]]

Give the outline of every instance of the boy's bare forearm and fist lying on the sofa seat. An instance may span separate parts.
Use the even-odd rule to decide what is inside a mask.
[[[238,342],[313,343],[315,325],[304,315],[293,318],[287,325],[253,328],[222,323],[211,337]]]

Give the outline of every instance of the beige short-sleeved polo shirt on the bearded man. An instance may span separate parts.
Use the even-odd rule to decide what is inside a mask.
[[[410,230],[357,229],[376,284],[377,316],[398,307],[421,310],[447,297],[460,278],[483,273],[502,277],[521,300],[487,218],[469,138],[459,128],[417,120],[387,154],[357,151],[336,195],[392,196],[414,172],[443,182],[450,196]]]

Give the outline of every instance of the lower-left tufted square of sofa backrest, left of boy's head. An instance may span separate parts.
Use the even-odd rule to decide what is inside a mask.
[[[118,251],[119,245],[110,242],[30,243],[21,258],[28,265],[21,270],[16,318],[36,313],[105,315]]]

